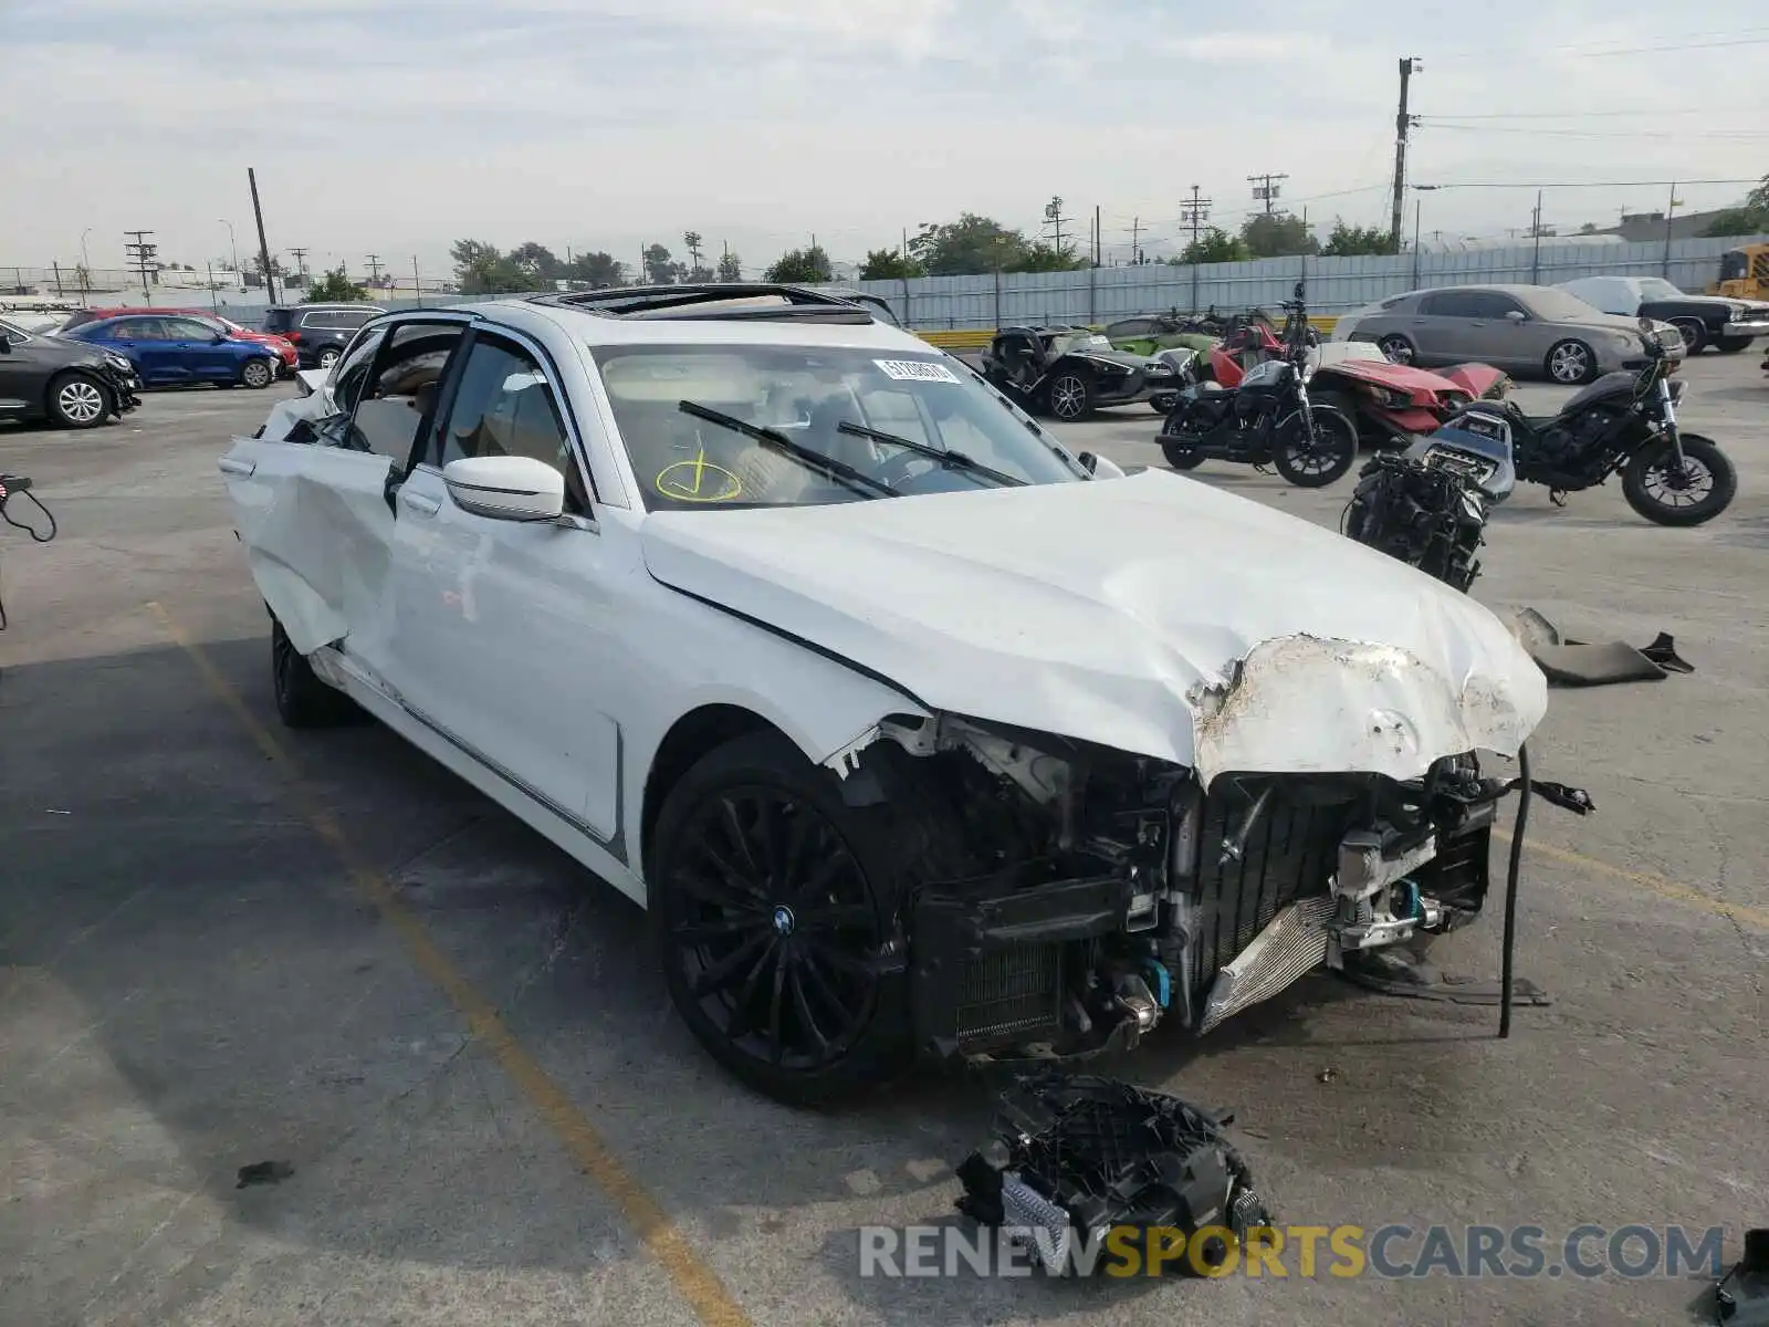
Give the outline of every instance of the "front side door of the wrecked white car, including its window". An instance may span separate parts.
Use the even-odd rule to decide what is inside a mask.
[[[398,490],[391,669],[421,722],[619,855],[619,729],[600,706],[624,667],[621,605],[577,437],[547,354],[476,329]],[[564,515],[458,506],[444,467],[499,455],[559,469]]]

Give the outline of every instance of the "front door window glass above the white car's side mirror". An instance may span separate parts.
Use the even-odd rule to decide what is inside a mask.
[[[587,515],[559,402],[532,354],[481,334],[467,356],[442,430],[442,464],[463,456],[532,456],[566,479],[566,510]]]

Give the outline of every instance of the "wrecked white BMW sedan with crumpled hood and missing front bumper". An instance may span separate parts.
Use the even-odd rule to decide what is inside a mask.
[[[1546,708],[1493,614],[1100,479],[862,304],[414,310],[325,393],[221,460],[281,717],[368,711],[647,906],[768,1093],[1206,1032],[1481,911],[1477,752]]]

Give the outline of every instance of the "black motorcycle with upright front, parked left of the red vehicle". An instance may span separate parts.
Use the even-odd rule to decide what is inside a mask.
[[[1155,441],[1168,465],[1191,471],[1206,460],[1274,465],[1298,488],[1321,488],[1357,460],[1357,428],[1339,410],[1309,403],[1309,318],[1297,283],[1284,303],[1284,356],[1247,370],[1233,391],[1187,377]]]

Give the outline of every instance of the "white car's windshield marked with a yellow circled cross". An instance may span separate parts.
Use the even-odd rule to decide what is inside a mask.
[[[651,511],[999,487],[976,467],[1024,483],[1086,479],[1054,439],[946,356],[787,345],[621,345],[591,354]],[[789,446],[708,418],[718,414],[773,430]],[[964,464],[941,464],[930,449]],[[842,481],[794,451],[863,478]]]

